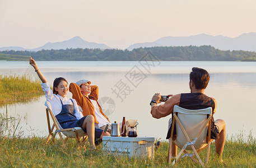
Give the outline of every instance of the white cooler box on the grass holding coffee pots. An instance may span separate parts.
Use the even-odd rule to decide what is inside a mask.
[[[103,150],[137,157],[154,157],[155,137],[103,137]]]

